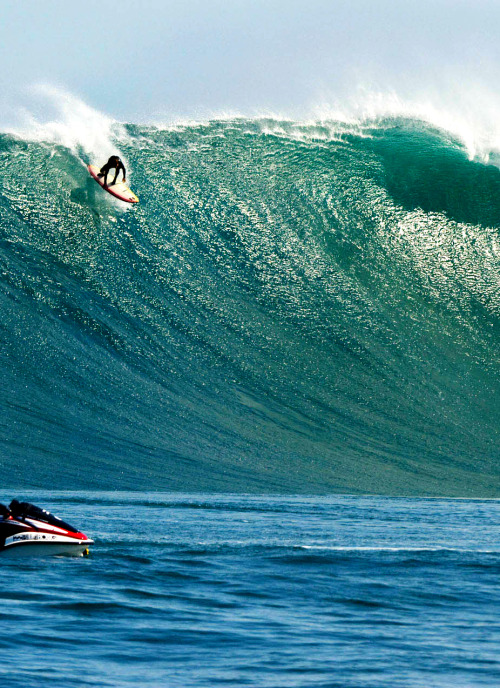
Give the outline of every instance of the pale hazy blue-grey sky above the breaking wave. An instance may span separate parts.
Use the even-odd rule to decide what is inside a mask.
[[[500,77],[499,0],[2,0],[0,105],[48,83],[121,120],[301,114],[359,85]]]

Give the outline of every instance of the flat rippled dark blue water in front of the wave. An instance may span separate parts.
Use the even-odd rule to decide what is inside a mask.
[[[96,544],[0,559],[1,685],[500,685],[497,501],[17,496]]]

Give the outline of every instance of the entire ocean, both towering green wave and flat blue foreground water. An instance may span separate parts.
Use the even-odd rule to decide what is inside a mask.
[[[0,501],[96,544],[0,555],[2,684],[500,685],[498,156],[78,112],[0,134]]]

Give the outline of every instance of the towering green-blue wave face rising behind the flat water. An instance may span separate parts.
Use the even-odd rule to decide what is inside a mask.
[[[500,171],[411,119],[0,136],[5,487],[499,495]]]

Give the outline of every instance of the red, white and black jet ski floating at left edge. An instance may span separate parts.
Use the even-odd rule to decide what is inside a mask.
[[[85,556],[94,541],[39,506],[13,499],[0,504],[0,557],[65,554]]]

